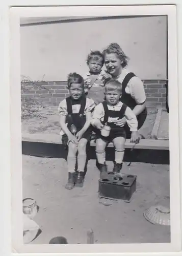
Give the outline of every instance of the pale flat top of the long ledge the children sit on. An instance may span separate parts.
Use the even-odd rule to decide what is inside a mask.
[[[22,134],[22,141],[27,142],[42,142],[62,144],[60,135],[58,134]],[[134,143],[131,143],[129,139],[126,140],[125,148],[132,148]],[[90,146],[95,146],[94,141],[90,142]],[[108,147],[113,147],[113,143],[110,143]],[[136,149],[148,149],[148,150],[169,150],[169,140],[155,140],[155,139],[141,139],[138,144],[135,145]]]

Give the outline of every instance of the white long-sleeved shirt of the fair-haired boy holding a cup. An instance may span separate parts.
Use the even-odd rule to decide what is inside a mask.
[[[123,105],[123,103],[121,101],[119,101],[114,106],[108,105],[108,109],[112,110],[112,111],[120,111],[122,105]],[[104,116],[105,116],[105,110],[103,109],[103,104],[99,103],[98,105],[95,106],[95,109],[93,111],[91,124],[94,126],[94,124],[98,120],[103,121]],[[130,108],[128,108],[128,106],[126,108],[124,116],[126,117],[126,122],[127,122],[127,125],[130,128],[130,131],[131,132],[138,131],[138,120],[137,120],[137,117],[134,114],[134,112]],[[118,119],[119,119],[119,117],[117,117],[117,118],[109,117],[108,118],[108,123],[114,122],[114,121],[116,121]]]

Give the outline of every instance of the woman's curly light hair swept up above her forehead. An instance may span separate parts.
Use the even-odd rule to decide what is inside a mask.
[[[112,42],[105,50],[103,50],[102,54],[105,57],[106,54],[116,53],[118,58],[122,61],[122,68],[127,66],[128,57],[125,55],[121,47],[117,44],[117,42]]]

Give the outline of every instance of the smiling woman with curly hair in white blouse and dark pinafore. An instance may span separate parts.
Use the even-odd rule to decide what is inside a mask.
[[[128,57],[117,43],[110,44],[102,54],[105,58],[107,72],[122,84],[120,100],[133,110],[138,119],[138,129],[140,129],[147,116],[143,82],[126,68]],[[126,137],[131,137],[126,117],[117,120],[115,124],[120,127],[125,126]]]

